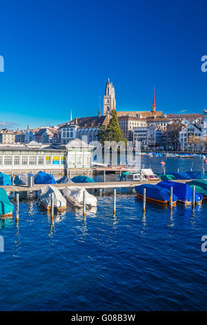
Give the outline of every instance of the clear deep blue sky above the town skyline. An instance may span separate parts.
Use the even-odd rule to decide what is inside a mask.
[[[97,115],[108,77],[117,111],[150,109],[155,85],[157,109],[203,113],[206,21],[206,1],[1,1],[0,127]]]

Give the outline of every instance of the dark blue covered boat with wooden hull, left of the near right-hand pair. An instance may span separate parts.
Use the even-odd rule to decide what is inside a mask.
[[[163,205],[170,204],[170,190],[164,189],[154,184],[143,184],[135,186],[135,190],[139,197],[143,197],[143,191],[146,188],[146,200]],[[176,205],[177,196],[172,194],[172,205]]]

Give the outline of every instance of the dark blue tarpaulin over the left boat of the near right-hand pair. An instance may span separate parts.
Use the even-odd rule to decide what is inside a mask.
[[[152,198],[159,201],[170,201],[170,190],[159,187],[158,185],[143,184],[135,186],[137,193],[143,195],[143,189],[146,188],[146,198]],[[173,194],[172,201],[177,201],[177,196]]]

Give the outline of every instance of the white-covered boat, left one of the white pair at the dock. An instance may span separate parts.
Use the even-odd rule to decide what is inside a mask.
[[[51,209],[52,193],[54,194],[54,207],[58,211],[66,210],[66,198],[59,192],[59,189],[52,185],[46,185],[37,192],[38,203],[41,203],[47,210]]]

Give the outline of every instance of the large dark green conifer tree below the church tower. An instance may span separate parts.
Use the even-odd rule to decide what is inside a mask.
[[[103,145],[104,141],[124,141],[126,139],[123,138],[122,131],[119,127],[117,111],[112,109],[110,122],[107,127],[100,127],[99,129],[99,141]]]

